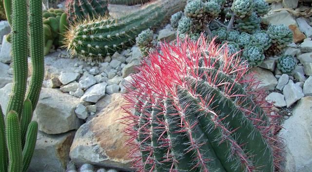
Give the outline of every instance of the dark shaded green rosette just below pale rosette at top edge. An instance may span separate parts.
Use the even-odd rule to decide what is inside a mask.
[[[240,32],[253,33],[255,30],[260,30],[261,19],[255,12],[251,16],[244,19],[237,19],[236,27]]]

